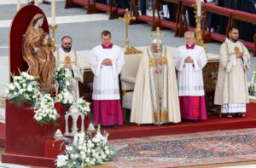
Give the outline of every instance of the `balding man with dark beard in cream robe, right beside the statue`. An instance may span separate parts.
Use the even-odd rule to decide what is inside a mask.
[[[67,69],[70,77],[73,77],[68,90],[75,99],[79,99],[79,81],[84,82],[83,60],[78,53],[72,49],[73,39],[70,36],[61,38],[61,47],[55,51],[55,67]]]

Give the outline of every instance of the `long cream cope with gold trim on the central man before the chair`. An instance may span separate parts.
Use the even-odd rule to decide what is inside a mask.
[[[162,74],[160,78],[162,80],[159,92],[157,91],[158,89],[155,89],[157,82],[152,83],[154,78],[158,80],[159,74],[154,72],[154,65],[157,60],[154,58],[150,48],[143,51],[132,98],[132,123],[162,124],[168,122],[178,123],[181,121],[172,51],[167,47],[163,47],[163,50],[160,56],[161,60],[165,63],[162,63],[161,67]],[[156,88],[158,87],[156,86]],[[160,113],[160,115],[155,115],[156,113]]]

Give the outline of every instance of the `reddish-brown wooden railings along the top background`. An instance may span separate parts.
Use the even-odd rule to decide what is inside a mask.
[[[88,13],[96,13],[97,11],[107,11],[109,12],[109,19],[115,19],[119,17],[119,14],[124,14],[124,9],[119,9],[116,4],[119,0],[110,0],[110,5],[97,4],[95,0],[66,0],[66,8],[73,6],[74,4],[79,4],[88,8]],[[160,19],[160,8],[159,1],[154,0],[153,17],[148,15],[140,16],[137,10],[137,4],[135,0],[131,0],[130,11],[131,15],[136,17],[136,20],[131,20],[131,24],[134,22],[144,21],[152,24],[151,30],[154,31],[157,26],[171,28],[175,31],[176,37],[183,37],[184,32],[188,30],[194,30],[195,27],[188,26],[188,21],[186,20],[186,10],[188,8],[194,8],[195,0],[164,0],[168,3],[177,4],[177,14],[176,22],[161,20]],[[217,5],[212,5],[210,3],[202,3],[202,10],[205,12],[205,17],[202,25],[202,38],[204,43],[209,43],[212,40],[217,40],[219,42],[224,42],[226,36],[228,35],[228,30],[231,26],[236,26],[237,21],[243,21],[247,23],[256,24],[256,14],[249,14],[247,12],[242,12],[234,9],[226,9]],[[228,23],[225,34],[210,32],[206,30],[208,27],[210,30],[209,14],[218,14],[228,19]],[[254,42],[248,42],[241,40],[248,49],[253,49],[254,56],[256,56],[256,33],[253,36]]]

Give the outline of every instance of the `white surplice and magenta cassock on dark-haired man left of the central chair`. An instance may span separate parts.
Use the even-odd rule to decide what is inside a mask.
[[[112,66],[103,66],[104,59],[112,60]],[[123,125],[123,115],[119,95],[119,73],[125,64],[124,52],[118,46],[98,45],[89,57],[93,79],[94,124]]]

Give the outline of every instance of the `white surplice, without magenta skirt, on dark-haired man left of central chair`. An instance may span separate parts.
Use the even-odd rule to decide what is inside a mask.
[[[104,59],[113,61],[113,66],[103,66]],[[125,64],[124,53],[118,46],[103,49],[98,45],[90,53],[90,67],[94,73],[93,100],[119,100],[119,73]]]

